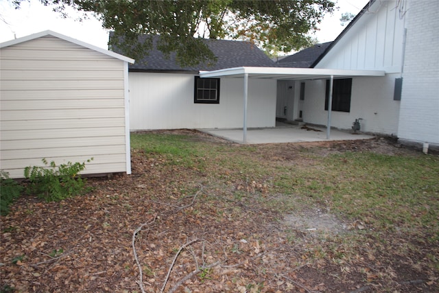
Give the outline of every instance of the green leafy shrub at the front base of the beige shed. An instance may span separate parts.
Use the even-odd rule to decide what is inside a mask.
[[[91,160],[93,158],[87,162]],[[47,202],[84,194],[86,179],[81,178],[79,173],[85,169],[85,162],[69,162],[57,166],[54,161],[50,163],[47,163],[46,159],[41,161],[46,167],[25,167],[25,178],[29,179],[28,193],[36,194]]]

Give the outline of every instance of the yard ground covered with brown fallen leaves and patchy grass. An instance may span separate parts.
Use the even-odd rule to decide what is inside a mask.
[[[1,290],[439,292],[438,179],[386,139],[132,134],[132,175],[1,216]]]

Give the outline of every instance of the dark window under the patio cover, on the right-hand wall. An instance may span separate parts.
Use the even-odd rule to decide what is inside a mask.
[[[330,80],[327,80],[327,92],[324,99],[324,110],[328,110],[329,102],[329,86]],[[332,110],[340,112],[351,111],[351,90],[352,78],[344,78],[341,80],[334,80],[332,89]]]

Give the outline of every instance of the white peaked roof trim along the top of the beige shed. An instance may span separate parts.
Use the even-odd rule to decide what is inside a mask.
[[[28,40],[34,40],[36,38],[41,38],[43,36],[54,36],[56,38],[61,38],[62,40],[67,40],[67,42],[70,42],[70,43],[73,43],[76,45],[80,45],[82,47],[86,47],[88,49],[98,51],[99,53],[111,56],[113,58],[117,58],[119,60],[123,60],[125,62],[134,64],[134,59],[132,59],[132,58],[128,58],[128,57],[123,56],[121,54],[117,54],[113,51],[108,51],[106,49],[102,49],[102,48],[96,47],[94,45],[82,42],[82,40],[77,40],[77,39],[71,38],[69,36],[64,36],[63,34],[58,34],[57,32],[52,32],[51,30],[46,30],[44,32],[38,32],[36,34],[31,34],[29,36],[23,36],[23,38],[16,38],[15,40],[8,40],[8,42],[0,43],[0,48],[5,48],[5,47],[9,47],[9,46],[16,45],[19,43],[24,43],[24,42],[27,42]]]

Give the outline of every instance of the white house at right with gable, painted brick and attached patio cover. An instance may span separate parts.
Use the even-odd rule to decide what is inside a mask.
[[[437,11],[439,1],[370,0],[311,68],[200,76],[278,80],[276,117],[326,125],[328,137],[331,127],[350,130],[359,121],[363,132],[439,147]]]

